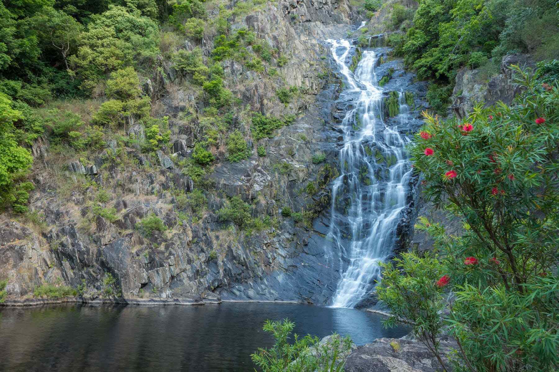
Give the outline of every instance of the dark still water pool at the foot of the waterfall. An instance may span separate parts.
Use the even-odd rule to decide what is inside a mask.
[[[358,345],[407,333],[374,313],[310,305],[4,307],[0,371],[253,371],[250,354],[272,345],[264,320],[286,317],[297,334]]]

